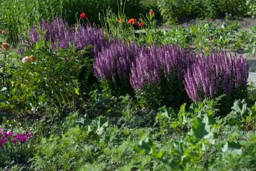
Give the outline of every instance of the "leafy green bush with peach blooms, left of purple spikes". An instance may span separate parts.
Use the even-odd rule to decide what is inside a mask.
[[[8,72],[3,72],[1,80],[8,79],[0,95],[1,109],[14,114],[25,111],[37,114],[46,104],[60,111],[76,108],[89,90],[87,79],[92,73],[92,59],[87,56],[89,48],[80,52],[75,47],[52,51],[48,42],[40,41],[26,51],[28,56],[36,58],[31,63],[22,63],[17,55],[6,54]],[[11,66],[12,61],[18,65]],[[84,78],[79,80],[82,68]]]

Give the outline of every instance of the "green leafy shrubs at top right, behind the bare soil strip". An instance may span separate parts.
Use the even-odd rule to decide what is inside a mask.
[[[160,0],[158,8],[168,22],[178,22],[183,18],[220,18],[226,15],[245,17],[253,11],[252,1],[177,1]]]

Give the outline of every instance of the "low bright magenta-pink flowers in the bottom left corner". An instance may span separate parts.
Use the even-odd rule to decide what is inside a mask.
[[[20,143],[27,142],[31,137],[34,136],[32,132],[26,132],[24,134],[16,134],[15,136],[14,132],[6,132],[5,128],[0,129],[0,148],[3,147],[3,144],[8,141],[8,139],[11,139],[13,143],[16,143],[17,141]]]

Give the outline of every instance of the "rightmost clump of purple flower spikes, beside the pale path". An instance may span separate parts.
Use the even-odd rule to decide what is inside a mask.
[[[188,66],[184,85],[188,96],[200,101],[245,89],[247,78],[248,63],[242,55],[228,57],[223,51],[216,54],[213,50],[209,57],[201,55]]]

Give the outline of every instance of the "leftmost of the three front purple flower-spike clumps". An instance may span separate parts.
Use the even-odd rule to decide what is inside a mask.
[[[94,74],[103,80],[121,80],[126,77],[129,80],[129,73],[132,60],[138,46],[135,43],[129,44],[120,40],[113,40],[108,47],[103,47],[98,52],[93,64]]]

